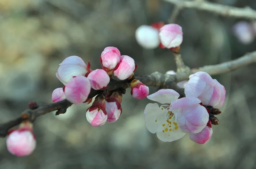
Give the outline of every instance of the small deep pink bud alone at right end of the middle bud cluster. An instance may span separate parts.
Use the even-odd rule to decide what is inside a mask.
[[[135,99],[144,99],[149,94],[149,88],[141,81],[134,79],[131,82],[131,95]]]

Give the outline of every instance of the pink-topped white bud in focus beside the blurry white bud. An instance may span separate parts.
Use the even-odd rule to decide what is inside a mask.
[[[180,46],[183,40],[182,28],[177,24],[167,24],[160,28],[159,38],[168,49]]]

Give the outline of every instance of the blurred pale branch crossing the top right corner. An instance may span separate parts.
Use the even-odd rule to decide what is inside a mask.
[[[221,5],[206,1],[187,1],[187,0],[165,0],[182,8],[193,8],[200,11],[212,12],[224,17],[256,19],[256,11],[250,7],[238,8],[228,5]]]

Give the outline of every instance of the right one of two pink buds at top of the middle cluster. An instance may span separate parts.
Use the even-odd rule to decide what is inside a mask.
[[[119,64],[114,70],[114,75],[120,80],[125,80],[133,74],[134,70],[134,60],[130,56],[122,55]]]

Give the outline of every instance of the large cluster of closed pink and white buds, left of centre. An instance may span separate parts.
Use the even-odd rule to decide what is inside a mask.
[[[64,99],[78,104],[90,103],[88,99],[91,88],[105,90],[112,74],[119,80],[133,78],[136,69],[134,60],[127,55],[121,55],[116,47],[106,47],[100,56],[102,69],[92,70],[90,62],[86,65],[78,56],[70,56],[60,63],[56,73],[57,78],[65,85],[52,93],[52,101]],[[134,79],[131,83],[131,94],[136,99],[143,99],[149,93],[149,88]],[[98,95],[92,106],[86,111],[86,119],[92,126],[100,126],[106,122],[115,122],[121,112],[121,91],[107,91],[106,95]]]

